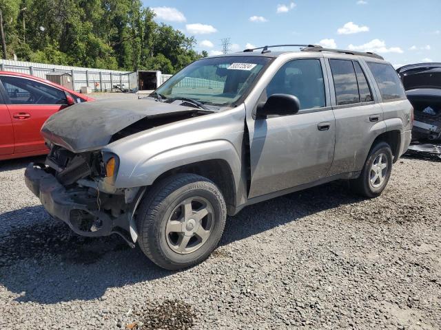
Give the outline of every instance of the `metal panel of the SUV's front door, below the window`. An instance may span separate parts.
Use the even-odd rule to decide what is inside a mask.
[[[320,128],[322,122],[329,129]],[[249,197],[326,177],[334,155],[335,131],[331,110],[255,120],[250,130]]]

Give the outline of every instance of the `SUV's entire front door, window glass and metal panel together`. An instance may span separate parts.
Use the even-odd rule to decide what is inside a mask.
[[[251,184],[249,198],[317,181],[327,176],[334,156],[335,119],[326,107],[327,85],[320,58],[284,63],[260,99],[273,94],[294,95],[295,115],[247,119]]]

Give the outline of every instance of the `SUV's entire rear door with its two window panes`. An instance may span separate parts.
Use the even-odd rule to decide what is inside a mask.
[[[331,96],[336,117],[336,149],[329,176],[357,172],[375,137],[385,131],[383,111],[362,61],[329,58],[327,65],[334,83]]]

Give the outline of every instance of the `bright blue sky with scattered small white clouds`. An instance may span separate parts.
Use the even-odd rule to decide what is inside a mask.
[[[441,0],[145,0],[156,21],[195,36],[196,50],[321,43],[373,51],[393,65],[441,62]]]

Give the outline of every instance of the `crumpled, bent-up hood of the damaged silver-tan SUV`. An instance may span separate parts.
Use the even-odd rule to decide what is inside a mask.
[[[54,113],[41,134],[70,151],[90,151],[102,148],[112,135],[143,118],[191,111],[195,109],[145,99],[84,102]]]

